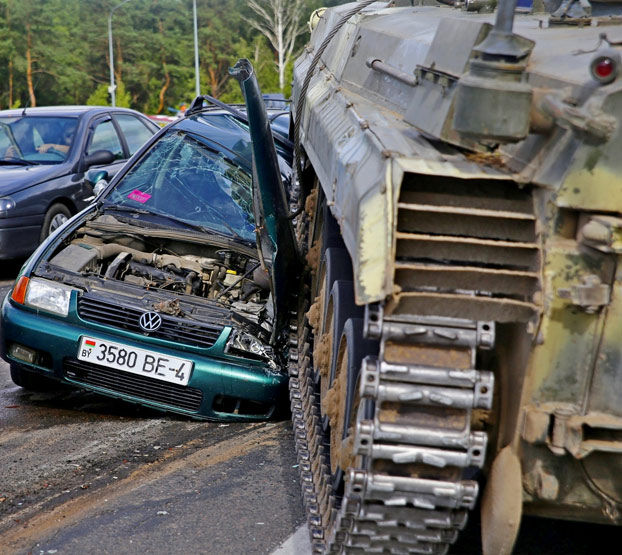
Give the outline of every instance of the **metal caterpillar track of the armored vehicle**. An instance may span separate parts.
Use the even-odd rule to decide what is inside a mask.
[[[365,334],[380,340],[380,354],[362,364],[353,427],[356,463],[344,476],[342,498],[333,491],[329,439],[321,424],[313,330],[306,316],[291,327],[292,422],[314,553],[446,553],[477,500],[478,484],[468,477],[484,463],[487,436],[472,431],[471,417],[474,409],[491,408],[494,388],[492,373],[475,369],[475,354],[493,346],[494,324],[398,321],[367,307]],[[388,361],[387,345],[405,338],[415,346],[466,349],[470,367]],[[453,418],[398,422],[387,418],[387,404],[397,407],[391,414],[402,407],[436,407],[431,410],[438,415],[449,408]]]

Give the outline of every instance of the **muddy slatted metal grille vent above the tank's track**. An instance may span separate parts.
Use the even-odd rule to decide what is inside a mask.
[[[394,314],[497,322],[540,310],[529,188],[407,174],[397,211]]]

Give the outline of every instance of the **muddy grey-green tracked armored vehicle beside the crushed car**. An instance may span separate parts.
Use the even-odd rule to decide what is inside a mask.
[[[622,10],[545,4],[314,18],[290,393],[317,552],[445,553],[480,501],[487,554],[522,514],[621,522]]]

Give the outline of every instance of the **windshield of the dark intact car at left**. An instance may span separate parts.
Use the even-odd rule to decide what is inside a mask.
[[[0,118],[0,161],[60,164],[73,143],[78,120],[58,116]]]

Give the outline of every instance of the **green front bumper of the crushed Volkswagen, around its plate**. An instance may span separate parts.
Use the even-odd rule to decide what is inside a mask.
[[[83,335],[191,359],[194,369],[190,381],[187,386],[179,386],[80,362],[76,355]],[[13,343],[36,350],[37,363],[27,364],[11,356],[9,348]],[[9,296],[2,305],[0,355],[9,363],[66,384],[202,419],[266,420],[287,389],[287,375],[264,365],[229,362],[190,354],[187,349],[136,341],[110,328],[102,331],[16,306]]]

